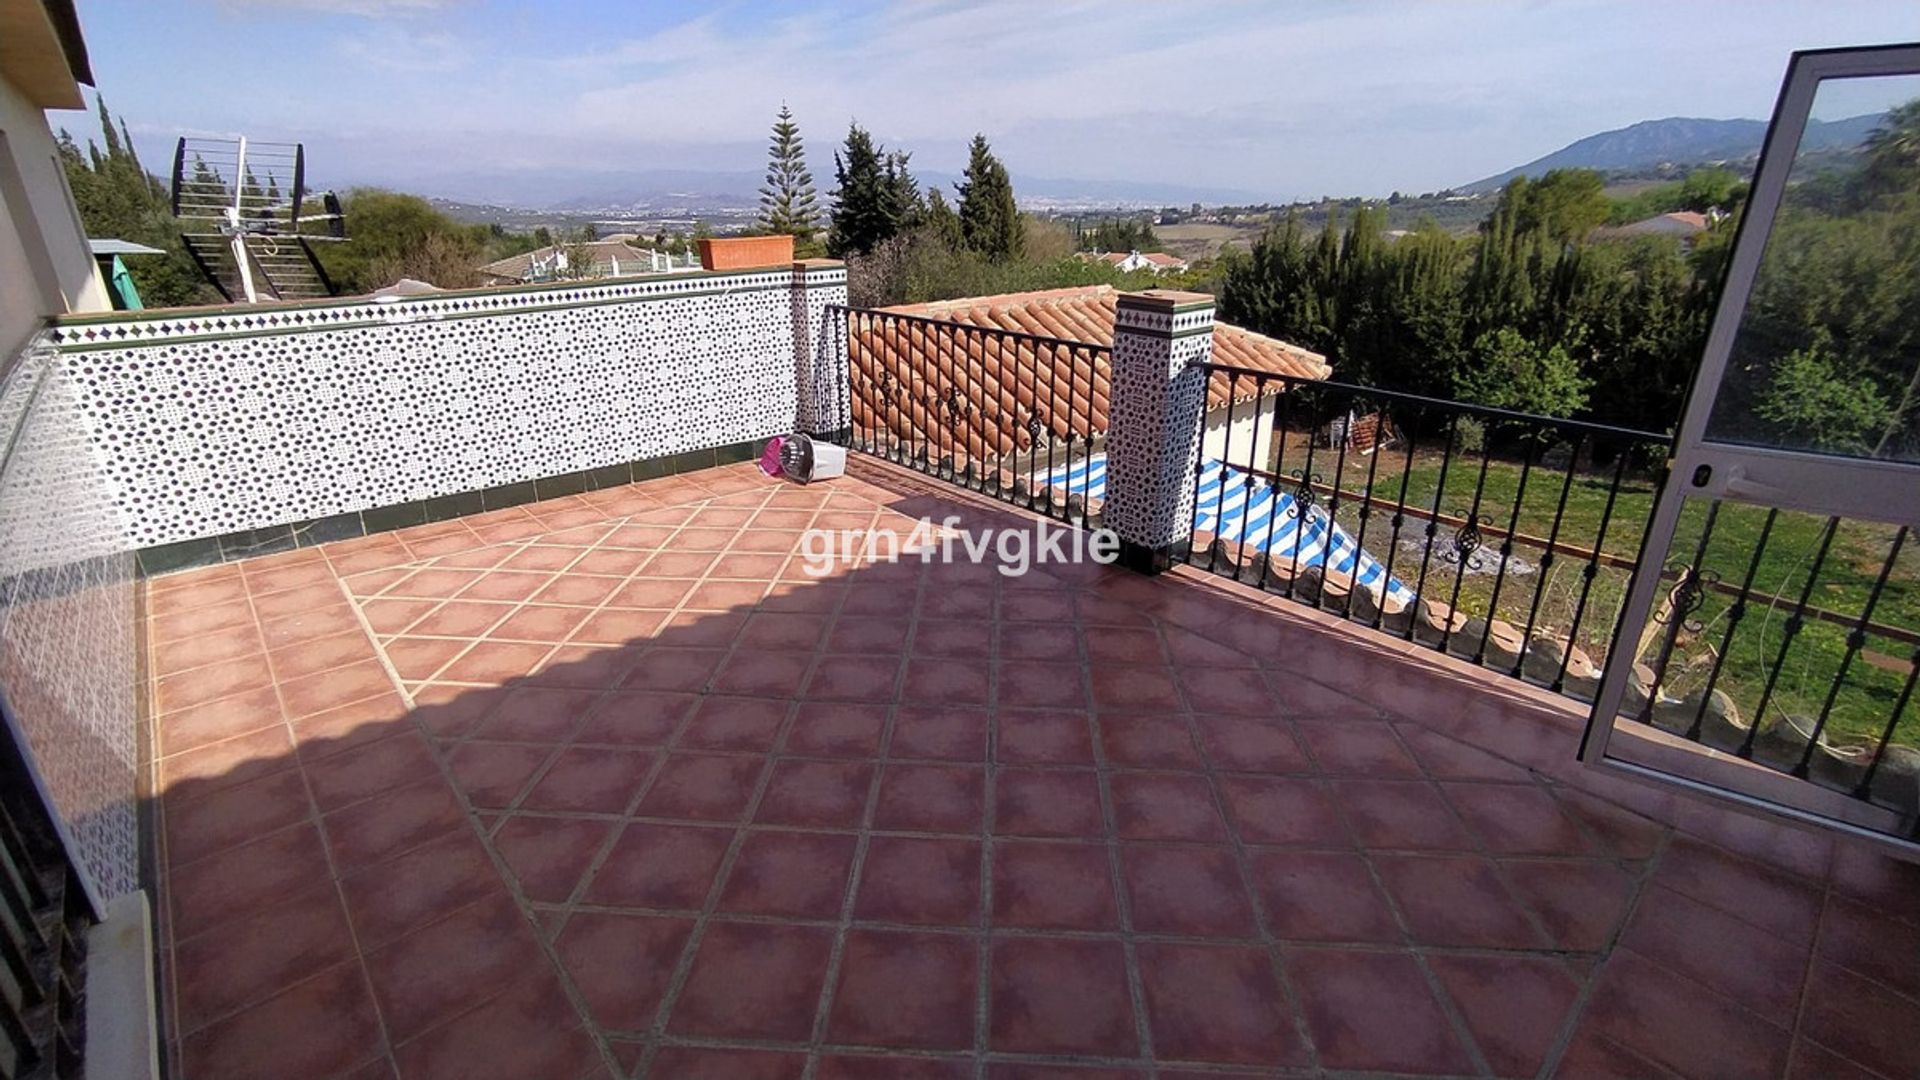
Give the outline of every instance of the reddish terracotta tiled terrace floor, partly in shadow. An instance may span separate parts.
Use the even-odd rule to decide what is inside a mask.
[[[747,467],[152,582],[186,1080],[1920,1072],[1920,874],[1187,575]],[[1678,828],[1676,828],[1678,826]]]

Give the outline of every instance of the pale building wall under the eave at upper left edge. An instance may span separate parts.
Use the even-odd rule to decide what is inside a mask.
[[[46,113],[0,75],[0,357],[48,315],[113,304],[86,250]]]

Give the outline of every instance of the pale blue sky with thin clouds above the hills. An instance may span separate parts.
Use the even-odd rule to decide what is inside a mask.
[[[453,198],[755,171],[781,102],[822,190],[858,121],[920,171],[958,173],[985,133],[1016,186],[1423,192],[1642,119],[1764,119],[1791,50],[1920,40],[1912,0],[79,0],[79,12],[98,88],[150,163],[182,133],[244,133],[305,142],[321,184]]]

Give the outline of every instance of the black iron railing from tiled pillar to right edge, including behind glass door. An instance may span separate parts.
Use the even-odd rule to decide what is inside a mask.
[[[1688,500],[1615,642],[1668,436],[1206,363],[1188,563],[1920,821],[1920,544]]]

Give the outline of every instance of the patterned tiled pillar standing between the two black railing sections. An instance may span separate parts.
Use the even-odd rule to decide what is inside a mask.
[[[1114,311],[1106,507],[1119,563],[1156,575],[1192,532],[1194,454],[1206,421],[1213,298],[1150,288],[1123,292]]]

